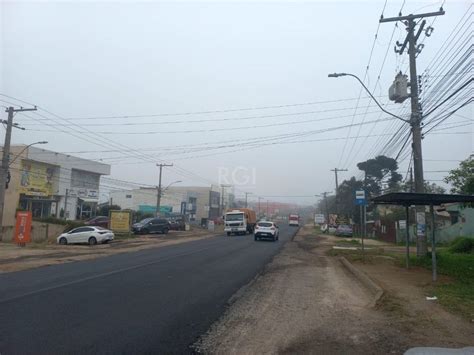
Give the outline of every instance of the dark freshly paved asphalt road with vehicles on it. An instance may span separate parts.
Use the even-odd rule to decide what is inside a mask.
[[[1,274],[0,354],[189,353],[296,231],[280,229]]]

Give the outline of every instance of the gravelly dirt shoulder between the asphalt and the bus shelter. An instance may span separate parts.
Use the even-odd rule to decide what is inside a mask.
[[[195,344],[196,351],[401,354],[414,346],[463,347],[473,342],[472,325],[450,314],[416,318],[417,310],[406,309],[401,298],[416,297],[413,290],[392,296],[388,289],[380,304],[371,307],[373,294],[338,258],[328,256],[334,242],[331,236],[315,236],[311,227],[301,229]],[[403,285],[402,275],[396,277]],[[454,328],[451,322],[456,322]]]

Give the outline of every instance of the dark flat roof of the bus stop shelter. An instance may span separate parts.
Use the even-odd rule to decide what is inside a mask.
[[[444,203],[474,203],[472,195],[447,195],[447,194],[424,194],[393,192],[371,199],[376,205],[441,205]]]

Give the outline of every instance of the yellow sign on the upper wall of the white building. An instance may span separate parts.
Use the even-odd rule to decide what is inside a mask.
[[[51,196],[54,170],[51,165],[23,160],[20,170],[20,193],[30,196]]]

